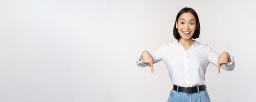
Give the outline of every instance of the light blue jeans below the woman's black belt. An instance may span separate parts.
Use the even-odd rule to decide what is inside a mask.
[[[187,94],[171,90],[167,102],[211,102],[207,90]]]

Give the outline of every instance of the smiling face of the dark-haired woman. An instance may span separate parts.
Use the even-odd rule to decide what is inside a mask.
[[[181,37],[180,39],[192,39],[197,26],[198,24],[196,24],[195,17],[192,13],[186,12],[181,14],[178,21],[176,22],[176,28],[178,29]]]

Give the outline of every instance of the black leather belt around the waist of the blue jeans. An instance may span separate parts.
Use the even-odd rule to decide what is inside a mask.
[[[177,87],[179,87],[178,90],[177,90]],[[198,90],[198,88],[199,88],[199,90]],[[172,89],[175,91],[178,91],[178,92],[185,92],[187,94],[192,94],[192,93],[196,93],[198,91],[204,91],[206,89],[206,85],[199,85],[199,86],[187,87],[187,88],[173,85]]]

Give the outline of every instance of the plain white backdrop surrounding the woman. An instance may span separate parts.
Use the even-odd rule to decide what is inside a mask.
[[[248,0],[0,0],[0,102],[166,102],[164,63],[137,55],[175,40],[175,17],[193,8],[198,42],[235,57],[208,65],[212,102],[253,102],[256,2]]]

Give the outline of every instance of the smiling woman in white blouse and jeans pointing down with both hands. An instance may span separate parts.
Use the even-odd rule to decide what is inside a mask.
[[[235,68],[234,57],[223,52],[218,55],[207,44],[201,44],[196,39],[200,34],[200,23],[197,13],[192,8],[183,8],[177,14],[173,35],[175,41],[166,42],[152,53],[143,51],[137,57],[139,67],[151,67],[163,60],[173,89],[168,102],[210,102],[206,90],[205,72],[207,65],[212,63],[225,71]]]

